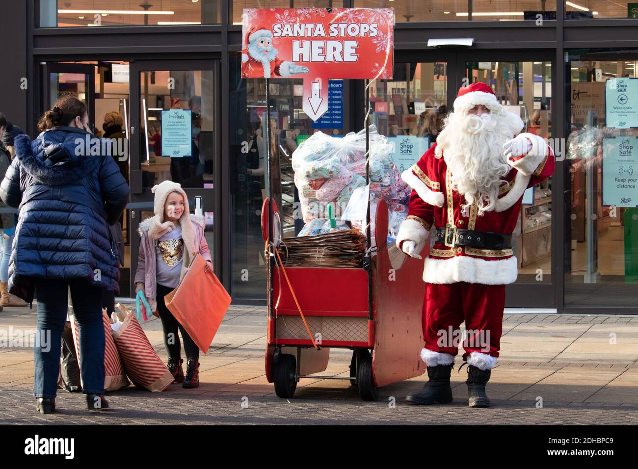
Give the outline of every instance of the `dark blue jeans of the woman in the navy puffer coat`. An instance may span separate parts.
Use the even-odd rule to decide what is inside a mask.
[[[84,278],[34,279],[38,302],[38,334],[34,346],[36,398],[55,398],[68,289],[80,330],[80,373],[84,394],[104,393],[104,323],[102,289]]]

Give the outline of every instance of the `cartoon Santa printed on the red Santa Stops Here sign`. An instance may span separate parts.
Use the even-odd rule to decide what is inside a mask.
[[[266,27],[249,29],[245,44],[241,54],[241,75],[244,78],[285,78],[308,73],[308,67],[278,58],[279,50],[272,45],[272,31]]]

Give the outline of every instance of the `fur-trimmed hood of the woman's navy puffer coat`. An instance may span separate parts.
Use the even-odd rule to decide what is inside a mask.
[[[96,170],[103,155],[83,156],[79,145],[86,138],[96,138],[91,133],[73,127],[56,127],[29,141],[27,135],[15,137],[15,154],[20,165],[40,184],[61,186],[74,184]],[[76,142],[78,139],[82,143]],[[80,149],[83,150],[83,149]]]

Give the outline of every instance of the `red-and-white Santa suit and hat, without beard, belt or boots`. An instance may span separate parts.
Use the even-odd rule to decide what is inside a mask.
[[[477,87],[468,87],[469,91],[462,88],[457,101],[496,102],[491,89],[480,85],[481,91],[472,91]],[[457,101],[455,110],[459,107]],[[523,128],[521,119],[517,116],[516,119],[512,121],[514,135]],[[431,229],[446,225],[450,236],[454,227],[511,235],[521,214],[524,191],[547,179],[554,170],[553,152],[545,140],[531,133],[521,135],[530,139],[531,151],[517,161],[510,161],[512,168],[504,178],[507,184],[501,186],[494,209],[481,216],[477,216],[476,204],[470,206],[467,216],[461,213],[466,200],[452,188],[452,174],[445,159],[435,156],[436,144],[403,172],[401,176],[412,188],[412,195],[408,218],[397,235],[399,248],[404,241],[415,241],[416,252],[420,253]],[[445,331],[449,338],[450,332],[459,334],[459,326],[465,321],[466,330],[473,336],[468,335],[463,342],[463,358],[480,369],[493,368],[500,350],[505,285],[516,281],[517,273],[517,260],[511,248],[451,247],[435,242],[424,260],[423,279],[427,285],[422,310],[423,361],[428,366],[452,364],[458,348],[448,340],[441,341],[440,331]],[[481,340],[486,338],[489,347]]]

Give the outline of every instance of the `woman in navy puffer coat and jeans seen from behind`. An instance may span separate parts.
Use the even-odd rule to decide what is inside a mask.
[[[0,197],[19,207],[9,265],[9,291],[38,302],[34,396],[41,413],[55,410],[61,334],[71,290],[80,330],[82,392],[89,409],[106,408],[102,290],[119,293],[117,247],[108,225],[128,203],[114,158],[89,131],[87,108],[64,96],[40,119],[38,138],[15,138],[16,158]]]

